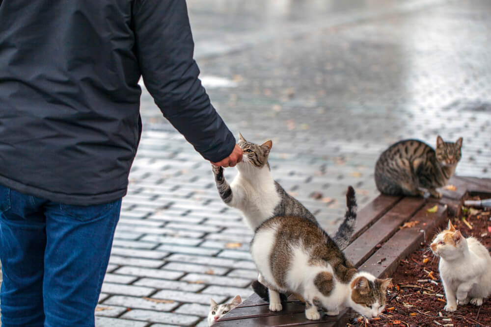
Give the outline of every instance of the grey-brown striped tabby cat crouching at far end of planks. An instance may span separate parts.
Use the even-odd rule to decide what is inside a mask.
[[[418,140],[404,140],[383,151],[375,165],[375,183],[382,194],[418,196],[447,184],[461,159],[462,137],[457,142],[436,138],[436,150]]]

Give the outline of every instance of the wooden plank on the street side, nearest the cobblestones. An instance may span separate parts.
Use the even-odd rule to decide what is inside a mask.
[[[372,226],[379,220],[387,211],[389,211],[402,197],[391,197],[387,195],[379,195],[375,200],[365,205],[358,211],[356,217],[355,231],[353,232],[352,240],[355,240],[361,233]]]

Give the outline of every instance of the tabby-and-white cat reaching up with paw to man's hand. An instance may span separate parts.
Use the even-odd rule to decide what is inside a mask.
[[[242,211],[252,230],[273,216],[296,216],[315,223],[314,215],[273,179],[268,163],[273,142],[270,140],[261,145],[255,144],[246,141],[239,133],[238,144],[244,155],[236,166],[239,174],[230,185],[223,176],[223,168],[212,165],[220,198],[229,206]],[[349,244],[355,223],[356,216],[347,212],[334,236],[334,241],[341,249]]]

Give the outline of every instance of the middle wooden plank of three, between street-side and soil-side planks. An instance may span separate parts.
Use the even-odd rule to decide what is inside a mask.
[[[374,225],[361,234],[344,251],[346,257],[359,267],[376,251],[378,244],[391,237],[399,226],[425,204],[422,198],[404,198],[385,213]]]

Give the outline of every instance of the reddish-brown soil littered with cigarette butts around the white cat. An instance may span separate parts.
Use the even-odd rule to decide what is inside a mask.
[[[474,236],[491,248],[490,211],[463,208],[459,218],[452,219],[452,224],[464,236]],[[351,326],[491,326],[491,298],[485,299],[480,307],[467,304],[459,305],[455,312],[443,309],[446,300],[438,273],[438,258],[428,251],[429,247],[429,243],[421,244],[421,249],[399,263],[383,314],[368,322],[358,319]]]

